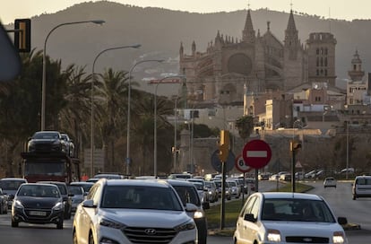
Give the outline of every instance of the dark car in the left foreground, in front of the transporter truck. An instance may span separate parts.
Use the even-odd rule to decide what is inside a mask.
[[[19,222],[56,223],[57,229],[63,229],[64,210],[56,185],[26,183],[14,196],[12,227],[18,227]]]

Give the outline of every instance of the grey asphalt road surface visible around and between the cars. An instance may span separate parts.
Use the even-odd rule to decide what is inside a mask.
[[[356,201],[351,198],[351,183],[338,182],[336,188],[325,188],[322,181],[307,182],[313,185],[315,189],[310,193],[324,196],[324,199],[332,206],[337,216],[347,217],[349,222],[358,223],[361,230],[346,231],[349,243],[360,244],[371,238],[371,219],[369,218],[371,209],[371,198],[361,198]],[[265,181],[259,186],[261,191],[274,188],[275,182]],[[38,225],[20,223],[19,228],[11,227],[11,214],[0,215],[0,236],[2,243],[53,243],[65,244],[72,243],[72,222],[66,220],[63,230],[56,230],[55,224]],[[208,237],[208,243],[211,244],[232,244],[231,237]]]

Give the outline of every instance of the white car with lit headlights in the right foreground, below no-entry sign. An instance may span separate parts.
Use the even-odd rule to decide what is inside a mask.
[[[348,239],[322,196],[290,192],[256,192],[237,218],[234,243],[338,243]]]

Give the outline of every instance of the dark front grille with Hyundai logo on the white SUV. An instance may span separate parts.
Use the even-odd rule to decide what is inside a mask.
[[[126,227],[126,238],[133,243],[169,243],[177,235],[174,229]]]

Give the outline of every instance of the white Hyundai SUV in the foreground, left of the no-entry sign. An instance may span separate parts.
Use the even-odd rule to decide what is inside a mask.
[[[73,243],[197,243],[177,192],[160,179],[100,179],[73,219]]]

